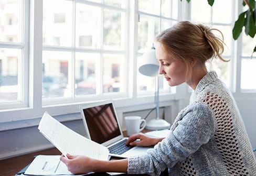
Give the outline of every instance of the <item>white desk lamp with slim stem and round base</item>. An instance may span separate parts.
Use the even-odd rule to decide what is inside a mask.
[[[155,108],[156,108],[156,118],[150,120],[146,124],[147,129],[159,130],[159,129],[168,129],[170,124],[164,119],[159,118],[159,63],[156,59],[155,48],[152,47],[151,50],[146,51],[142,55],[142,63],[138,68],[138,71],[145,75],[155,77],[156,81],[156,92],[155,92]]]

